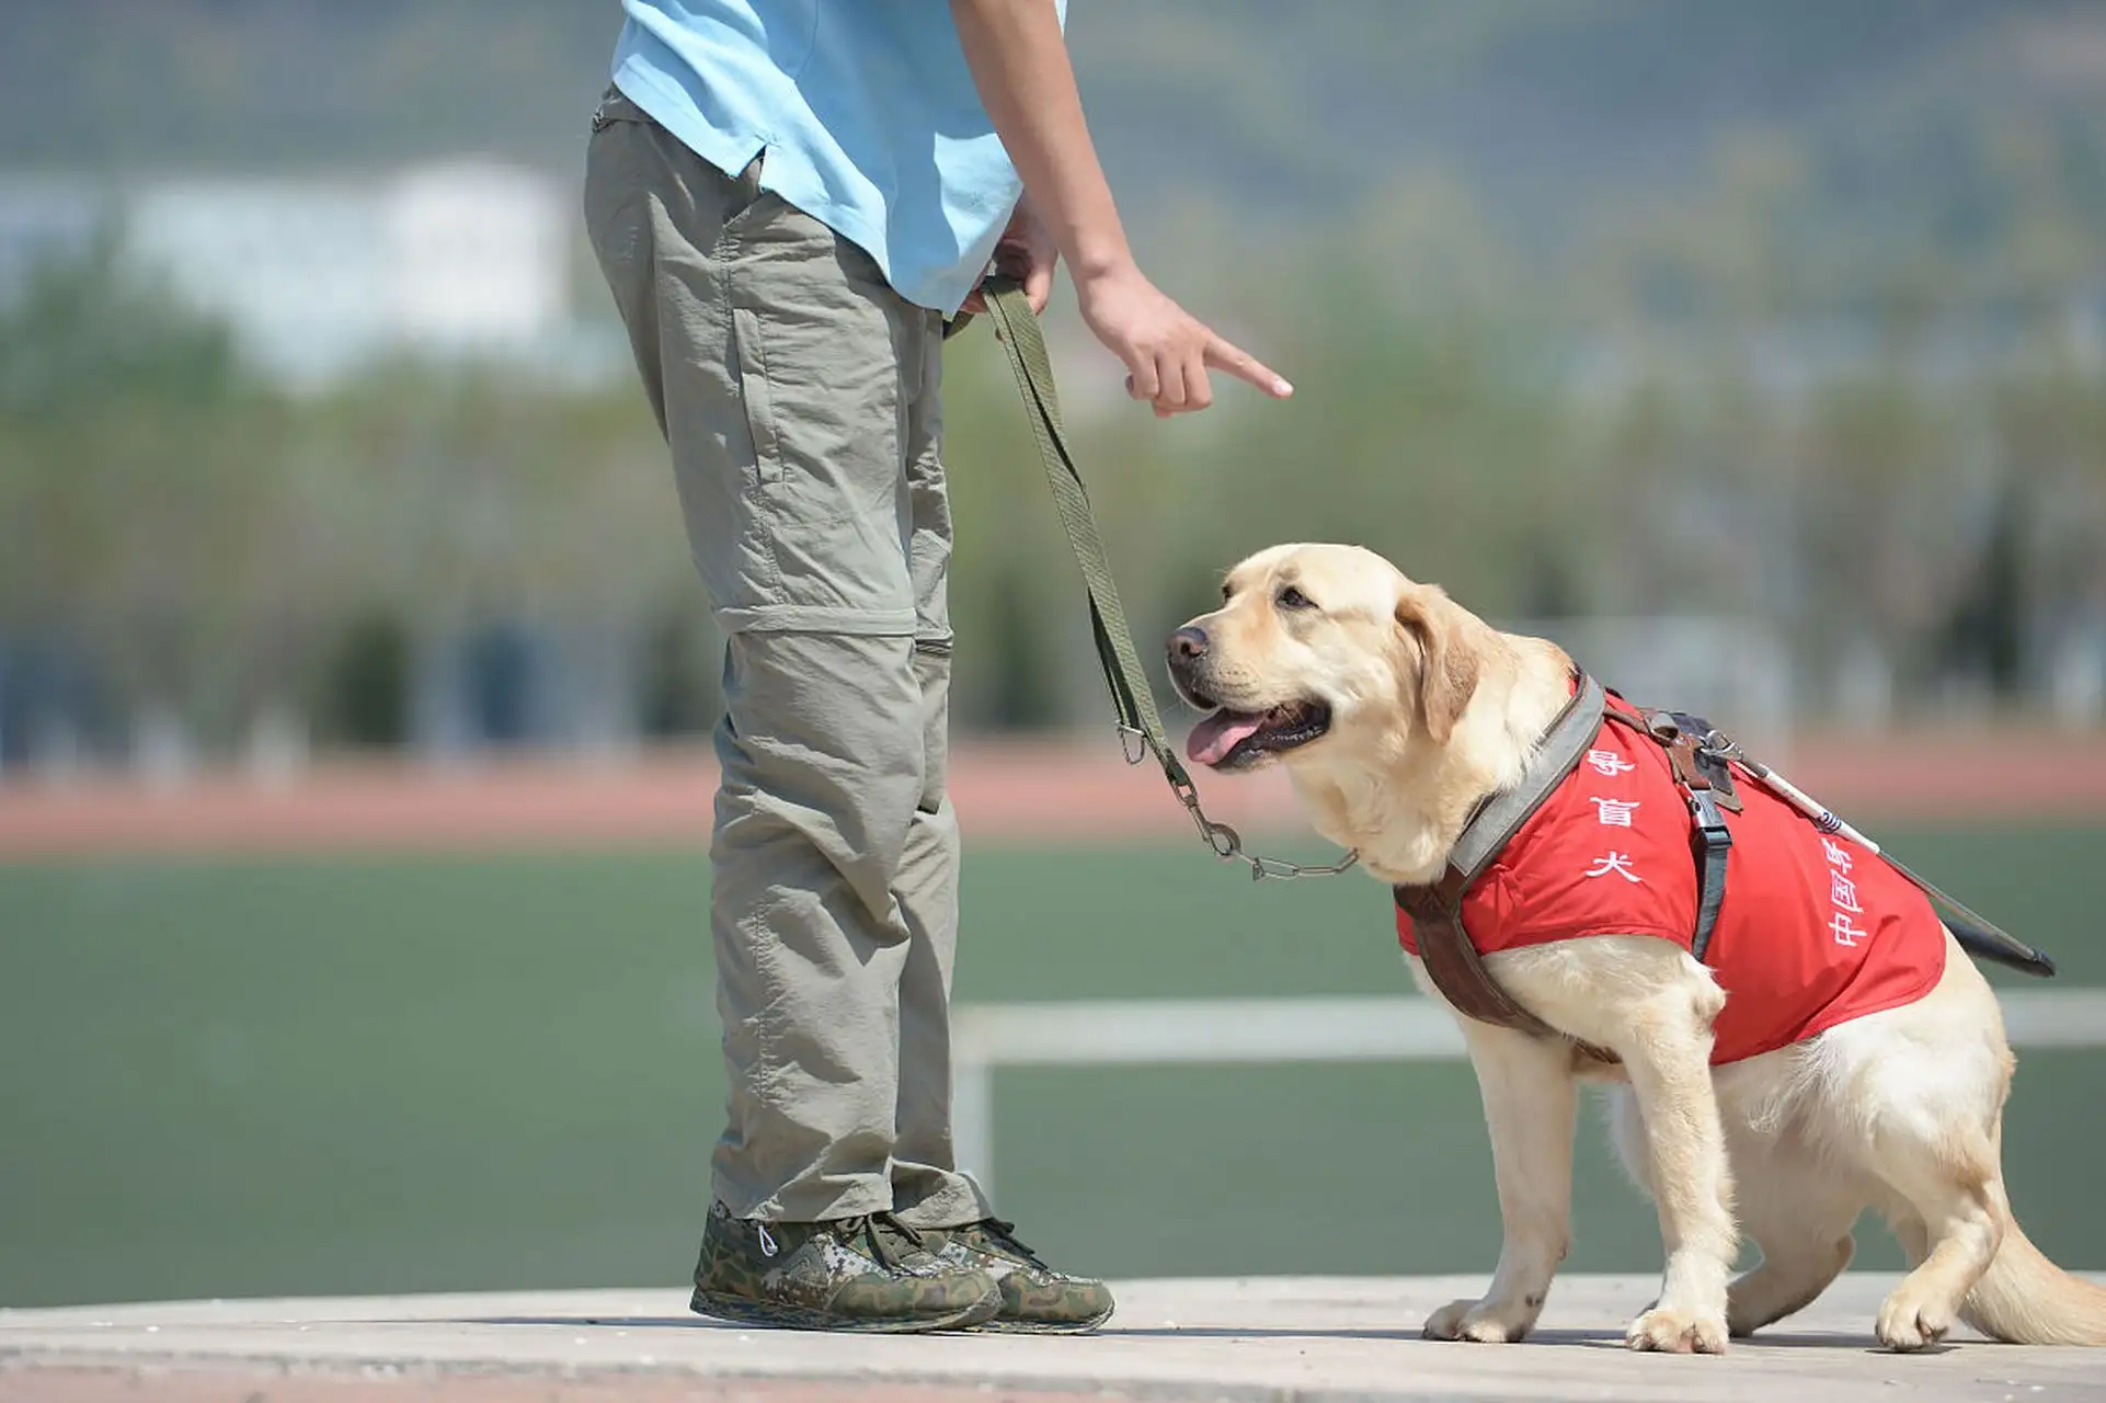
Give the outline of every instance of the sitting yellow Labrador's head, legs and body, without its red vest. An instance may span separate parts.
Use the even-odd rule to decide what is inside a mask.
[[[1497,632],[1350,546],[1251,556],[1169,653],[1177,689],[1209,712],[1192,758],[1285,765],[1316,830],[1400,887],[1445,872],[1472,811],[1516,786],[1573,695],[1563,649]],[[1535,1325],[1569,1239],[1575,1081],[1601,1079],[1617,1152],[1666,1239],[1632,1348],[1721,1352],[1727,1336],[1807,1306],[1849,1262],[1866,1207],[1914,1264],[1881,1306],[1887,1346],[1927,1346],[1954,1319],[1999,1340],[2106,1344],[2106,1289],[2053,1266],[2011,1218],[2011,1051],[1996,996],[1942,927],[1933,954],[1940,935],[1942,973],[1912,1003],[1721,1066],[1727,994],[1685,944],[1594,935],[1487,954],[1497,986],[1565,1036],[1459,1017],[1504,1243],[1483,1300],[1436,1310],[1426,1333],[1508,1342]],[[1413,977],[1438,999],[1417,959]],[[1763,1260],[1729,1279],[1742,1228]]]

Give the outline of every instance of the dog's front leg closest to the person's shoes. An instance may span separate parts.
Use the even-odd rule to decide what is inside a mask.
[[[1485,1298],[1434,1310],[1426,1336],[1504,1344],[1535,1327],[1571,1243],[1571,1047],[1472,1020],[1462,1026],[1485,1098],[1504,1241]]]

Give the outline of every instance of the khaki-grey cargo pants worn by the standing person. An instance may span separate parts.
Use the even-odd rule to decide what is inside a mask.
[[[941,318],[619,93],[585,223],[727,638],[710,929],[737,1218],[988,1216],[950,1138]]]

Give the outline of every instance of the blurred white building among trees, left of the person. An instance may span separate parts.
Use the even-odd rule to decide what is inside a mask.
[[[457,160],[373,177],[0,177],[0,297],[114,230],[249,358],[322,386],[388,354],[607,364],[573,308],[577,202],[539,171]],[[613,362],[619,367],[619,362]]]

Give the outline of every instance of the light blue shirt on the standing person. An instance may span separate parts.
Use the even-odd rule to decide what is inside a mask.
[[[1068,0],[1055,0],[1061,23]],[[697,156],[855,242],[950,316],[1024,183],[948,0],[621,0],[615,86]]]

